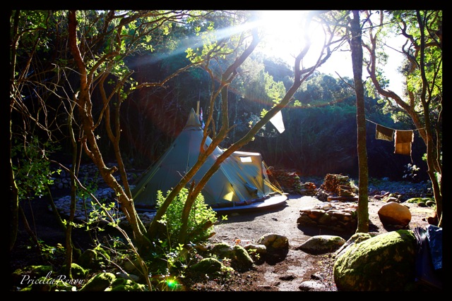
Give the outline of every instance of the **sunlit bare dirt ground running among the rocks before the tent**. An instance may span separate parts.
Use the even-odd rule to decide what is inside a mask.
[[[313,207],[320,202],[315,197],[291,195],[287,204],[272,211],[256,211],[245,214],[232,214],[227,221],[215,226],[213,241],[225,241],[233,245],[254,243],[266,233],[287,236],[290,250],[283,259],[274,262],[255,264],[254,269],[234,276],[227,283],[198,283],[191,290],[228,291],[337,291],[333,279],[333,254],[308,254],[296,250],[306,240],[315,235],[338,235],[348,240],[353,233],[335,233],[321,228],[302,228],[297,225],[299,211]],[[379,199],[369,199],[369,232],[386,233],[395,229],[384,228],[378,211],[385,204]],[[418,207],[417,204],[403,203],[410,208],[412,219],[409,228],[426,227],[427,218],[433,210]],[[309,287],[304,281],[314,281],[319,285]],[[306,283],[304,283],[306,284]]]

